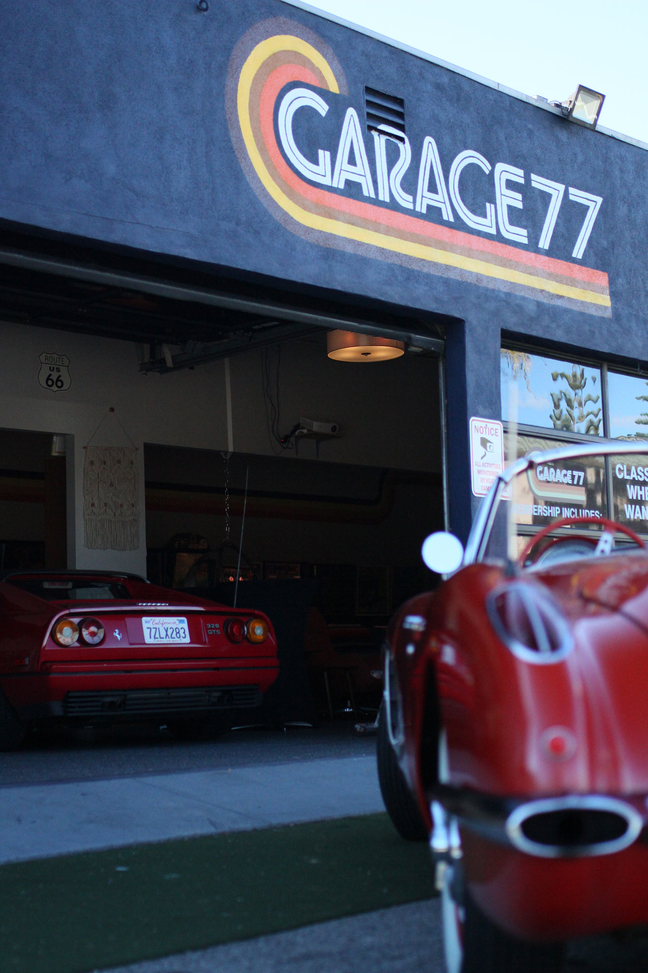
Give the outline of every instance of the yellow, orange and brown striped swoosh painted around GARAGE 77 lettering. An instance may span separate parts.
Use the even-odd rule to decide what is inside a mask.
[[[293,20],[262,21],[234,48],[226,108],[245,175],[284,227],[320,245],[611,316],[608,276],[601,270],[529,253],[306,182],[284,159],[273,124],[279,92],[292,83],[348,94],[342,66],[321,38]]]

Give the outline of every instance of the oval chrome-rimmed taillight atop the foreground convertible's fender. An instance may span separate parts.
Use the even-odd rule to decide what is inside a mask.
[[[511,651],[527,662],[553,663],[572,645],[558,605],[523,582],[493,592],[487,600],[493,628]]]

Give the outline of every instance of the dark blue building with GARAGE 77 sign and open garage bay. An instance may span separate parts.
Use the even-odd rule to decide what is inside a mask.
[[[295,0],[0,25],[2,570],[384,624],[471,417],[641,434],[647,146]]]

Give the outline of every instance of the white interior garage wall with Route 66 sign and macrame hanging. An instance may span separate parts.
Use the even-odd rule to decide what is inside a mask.
[[[0,427],[67,436],[69,566],[144,573],[144,443],[227,450],[224,363],[144,376],[132,342],[6,323],[0,323],[0,336]],[[39,384],[43,351],[69,358],[68,390],[53,392]],[[274,352],[270,360],[275,363]],[[234,450],[271,454],[262,354],[236,356],[230,368]],[[281,432],[302,415],[341,424],[342,437],[323,444],[322,460],[440,471],[433,360],[408,355],[354,366],[328,359],[323,341],[288,342],[281,351],[279,398]],[[84,545],[84,446],[104,417],[93,446],[132,443],[138,450],[140,543],[133,552],[92,551]],[[302,455],[314,457],[312,443],[304,444]],[[294,452],[285,458],[298,461]]]

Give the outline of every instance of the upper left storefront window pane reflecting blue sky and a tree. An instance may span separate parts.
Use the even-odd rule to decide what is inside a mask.
[[[515,420],[513,413],[517,411],[521,425],[586,436],[603,435],[597,368],[502,348],[500,377],[505,421]]]

